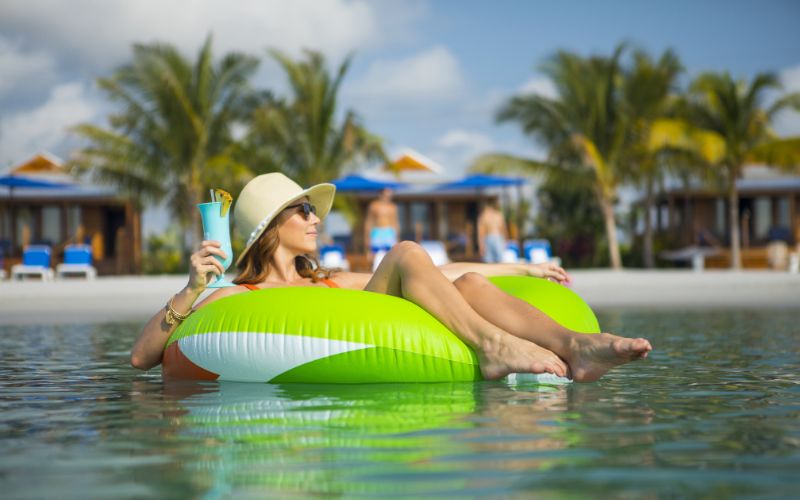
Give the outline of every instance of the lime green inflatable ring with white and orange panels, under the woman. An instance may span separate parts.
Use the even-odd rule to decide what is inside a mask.
[[[572,290],[537,278],[492,282],[563,326],[600,331]],[[335,288],[273,288],[193,313],[167,342],[165,378],[269,383],[481,380],[475,353],[414,303]]]

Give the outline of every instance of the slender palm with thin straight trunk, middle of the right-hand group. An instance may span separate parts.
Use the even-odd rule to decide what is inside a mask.
[[[655,204],[656,183],[663,178],[667,166],[664,151],[677,147],[682,140],[681,128],[670,127],[667,121],[672,111],[676,80],[682,69],[678,57],[671,50],[664,51],[657,61],[646,52],[637,51],[622,84],[624,112],[631,127],[630,174],[645,192],[643,260],[647,268],[654,266],[650,212]]]

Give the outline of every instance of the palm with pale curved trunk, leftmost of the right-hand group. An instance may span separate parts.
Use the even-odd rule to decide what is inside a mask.
[[[478,158],[473,170],[543,172],[555,184],[590,182],[600,206],[611,266],[622,268],[614,205],[625,175],[629,123],[623,113],[619,46],[611,57],[560,51],[543,66],[557,96],[520,95],[498,112],[500,122],[518,122],[526,134],[549,148],[545,162],[504,154]]]

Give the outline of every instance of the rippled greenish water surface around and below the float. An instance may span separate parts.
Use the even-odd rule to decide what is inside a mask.
[[[599,314],[600,382],[164,384],[137,324],[0,326],[4,498],[790,497],[800,313]]]

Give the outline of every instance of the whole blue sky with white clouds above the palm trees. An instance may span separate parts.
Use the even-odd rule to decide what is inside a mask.
[[[103,123],[94,87],[126,62],[132,42],[193,55],[213,32],[217,53],[263,57],[256,84],[284,88],[267,47],[355,58],[343,104],[386,139],[463,171],[475,155],[543,152],[497,107],[518,92],[552,92],[537,67],[554,51],[608,54],[627,40],[673,48],[687,75],[774,71],[800,90],[800,2],[4,0],[0,4],[0,169],[42,150],[68,157],[66,128]],[[778,131],[800,133],[797,115]]]

